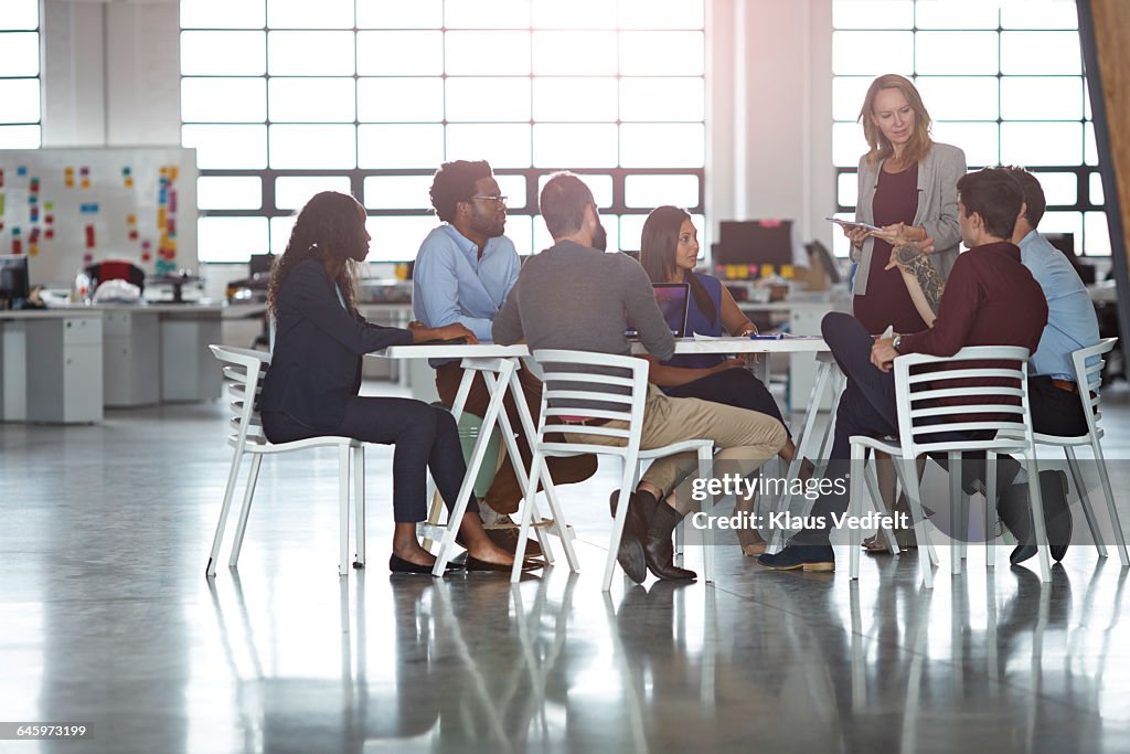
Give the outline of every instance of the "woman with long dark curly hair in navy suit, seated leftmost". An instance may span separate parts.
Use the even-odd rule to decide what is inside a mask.
[[[426,473],[451,509],[467,467],[455,421],[444,409],[408,398],[360,397],[362,355],[389,346],[475,335],[462,324],[408,329],[368,322],[357,311],[357,267],[368,255],[365,209],[324,191],[298,213],[286,252],[271,271],[267,305],[276,323],[271,364],[259,397],[271,442],[337,435],[394,445],[389,567],[429,573],[435,557],[416,539],[427,517]],[[469,512],[478,511],[472,496]],[[469,570],[508,571],[514,560],[487,538],[479,517],[464,515],[461,539]]]

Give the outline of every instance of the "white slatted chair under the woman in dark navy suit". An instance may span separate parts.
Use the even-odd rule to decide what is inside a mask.
[[[232,408],[231,434],[227,444],[233,448],[232,467],[227,475],[227,486],[224,488],[224,505],[216,523],[216,536],[212,538],[211,554],[208,556],[209,577],[216,575],[216,563],[219,560],[219,546],[224,539],[227,525],[227,513],[232,506],[235,493],[235,482],[240,476],[243,457],[250,454],[251,470],[247,474],[247,486],[243,495],[243,506],[240,510],[240,523],[235,530],[235,543],[228,565],[235,567],[240,561],[240,549],[243,547],[243,535],[247,528],[247,515],[251,513],[251,499],[255,494],[255,482],[259,478],[259,467],[263,456],[268,453],[285,453],[307,448],[338,449],[338,512],[340,551],[338,573],[349,573],[349,462],[353,457],[354,495],[357,560],[355,565],[365,565],[365,448],[364,443],[351,437],[310,437],[294,442],[271,443],[263,436],[259,411],[255,410],[255,398],[259,395],[263,374],[270,365],[270,354],[247,348],[229,348],[227,346],[208,346],[212,354],[224,364],[224,376],[227,383],[227,399]]]

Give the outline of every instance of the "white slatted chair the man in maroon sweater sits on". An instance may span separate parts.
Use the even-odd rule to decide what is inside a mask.
[[[881,440],[854,435],[851,437],[851,502],[850,514],[860,515],[863,504],[863,468],[868,453],[883,451],[895,460],[895,469],[910,503],[914,518],[914,534],[919,543],[919,563],[922,583],[933,587],[931,562],[937,555],[929,546],[925,520],[922,515],[920,479],[915,459],[925,453],[948,454],[950,504],[960,508],[954,520],[967,523],[967,497],[960,489],[960,459],[963,451],[985,451],[989,479],[986,506],[993,508],[996,497],[996,457],[1000,453],[1017,454],[1028,467],[1028,492],[1032,504],[1033,523],[1043,581],[1051,581],[1051,556],[1048,532],[1044,525],[1043,501],[1040,495],[1040,478],[1035,463],[1032,418],[1028,408],[1027,385],[1028,349],[1016,346],[973,346],[963,348],[949,358],[909,354],[894,361],[895,405],[898,406],[898,437]],[[960,364],[954,365],[960,362]],[[938,371],[923,371],[924,365],[941,366]],[[912,373],[912,370],[915,370]],[[1008,385],[984,385],[985,378],[1006,379]],[[962,387],[936,388],[938,381],[962,381]],[[980,382],[980,384],[979,384]],[[940,399],[976,398],[980,402],[968,405],[939,405]],[[945,417],[949,421],[938,421]],[[967,417],[967,418],[966,418]],[[964,419],[964,421],[962,421]],[[979,432],[985,440],[946,440],[931,437],[938,433]],[[1028,459],[1032,460],[1031,467]],[[859,578],[859,551],[862,532],[851,529],[851,578]],[[954,572],[959,572],[964,557],[965,531],[958,531],[954,552]]]

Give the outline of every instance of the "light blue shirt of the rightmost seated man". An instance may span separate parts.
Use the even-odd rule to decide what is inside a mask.
[[[1020,261],[1048,300],[1048,326],[1028,364],[1033,375],[1075,381],[1071,352],[1098,343],[1098,318],[1087,287],[1059,249],[1032,231],[1019,243]]]

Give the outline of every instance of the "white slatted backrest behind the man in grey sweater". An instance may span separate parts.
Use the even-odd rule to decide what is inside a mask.
[[[539,349],[533,359],[542,371],[541,418],[538,435],[572,432],[620,437],[623,449],[575,443],[542,443],[547,450],[601,452],[627,456],[637,452],[647,398],[647,362],[633,356],[611,356],[586,350]],[[627,422],[627,427],[579,426],[577,418]]]

